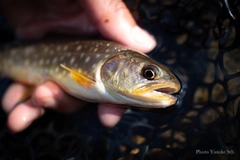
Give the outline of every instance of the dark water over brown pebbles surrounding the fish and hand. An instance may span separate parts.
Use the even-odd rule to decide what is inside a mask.
[[[158,40],[150,56],[178,75],[183,85],[178,105],[129,109],[111,129],[100,124],[96,104],[71,115],[48,111],[17,134],[8,131],[0,111],[1,160],[240,158],[240,2],[126,3]],[[15,39],[3,17],[0,35],[2,44]],[[9,83],[0,81],[1,95]]]

